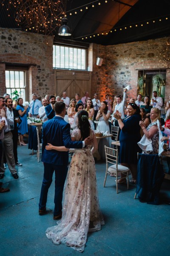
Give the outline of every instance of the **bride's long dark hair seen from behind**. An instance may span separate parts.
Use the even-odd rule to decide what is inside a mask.
[[[88,112],[85,110],[81,110],[77,114],[78,124],[77,127],[80,130],[81,140],[84,140],[88,136],[90,136],[90,123],[88,122]]]

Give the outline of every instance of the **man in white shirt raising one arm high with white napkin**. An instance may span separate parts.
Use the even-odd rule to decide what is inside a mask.
[[[122,114],[122,116],[121,116],[122,119],[125,118],[124,111],[125,111],[125,103],[126,103],[126,91],[127,91],[127,89],[124,89],[122,102],[121,102],[122,97],[120,95],[116,96],[117,104],[116,104],[114,112],[113,112],[113,113],[116,113],[116,111],[119,111],[119,113]],[[117,121],[116,118],[114,118],[114,116],[112,116],[111,123],[113,124],[113,122],[114,122],[114,126],[119,126],[118,122],[116,122],[116,121]],[[115,124],[115,122],[116,122],[116,124]]]

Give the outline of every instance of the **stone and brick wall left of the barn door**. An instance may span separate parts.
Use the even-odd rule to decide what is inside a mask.
[[[15,29],[0,28],[0,95],[6,92],[5,63],[28,66],[29,99],[31,94],[54,93],[53,38]]]

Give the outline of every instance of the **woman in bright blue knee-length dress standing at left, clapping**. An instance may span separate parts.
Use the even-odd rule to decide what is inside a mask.
[[[26,116],[28,106],[23,107],[23,99],[22,98],[18,99],[17,110],[18,110],[18,113],[22,120],[20,125],[18,125],[18,132],[20,133],[20,145],[26,146],[27,144],[24,143],[24,141],[23,141],[23,134],[26,134],[28,132],[27,116]]]

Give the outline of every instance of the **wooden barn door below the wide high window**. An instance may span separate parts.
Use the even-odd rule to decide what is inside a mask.
[[[55,70],[55,96],[62,96],[64,91],[70,99],[75,98],[75,93],[80,99],[86,91],[91,95],[91,72]]]

